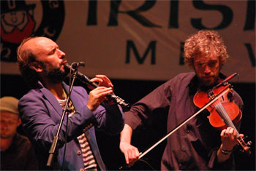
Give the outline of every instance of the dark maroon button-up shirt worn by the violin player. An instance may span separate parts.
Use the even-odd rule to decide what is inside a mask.
[[[223,77],[221,74],[220,76]],[[193,103],[198,81],[195,73],[181,73],[135,103],[125,113],[125,123],[135,130],[159,108],[167,108],[167,132],[195,114],[199,108]],[[235,103],[242,108],[241,97],[234,92]],[[198,114],[167,138],[162,155],[161,170],[233,170],[233,156],[217,162],[221,145],[220,131],[209,124],[208,111]]]

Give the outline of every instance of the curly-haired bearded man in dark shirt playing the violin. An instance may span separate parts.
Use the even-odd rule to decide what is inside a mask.
[[[217,31],[198,31],[189,36],[184,44],[184,61],[195,72],[178,74],[124,114],[125,125],[119,147],[129,167],[140,156],[138,148],[131,145],[133,130],[145,124],[152,114],[157,114],[155,111],[159,108],[168,111],[167,132],[195,114],[199,110],[193,103],[195,93],[206,92],[225,79],[220,70],[227,57],[224,41]],[[236,92],[233,94],[233,100],[241,109],[241,97]],[[232,127],[216,130],[209,124],[208,114],[203,111],[167,138],[161,170],[235,169],[232,150],[238,143],[238,133]],[[237,125],[239,128],[240,122]]]

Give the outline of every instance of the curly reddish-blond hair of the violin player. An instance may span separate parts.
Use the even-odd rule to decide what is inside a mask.
[[[189,36],[184,44],[184,62],[192,67],[193,58],[201,54],[208,57],[211,52],[211,47],[214,47],[214,50],[219,57],[219,64],[222,67],[229,55],[227,55],[227,48],[217,31],[202,30]]]

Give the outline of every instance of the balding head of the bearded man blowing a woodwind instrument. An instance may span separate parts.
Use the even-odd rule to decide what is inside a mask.
[[[36,86],[32,87],[38,87],[38,81],[45,80],[45,77],[51,73],[55,75],[52,71],[58,71],[57,75],[59,73],[61,73],[61,76],[64,75],[62,73],[65,71],[65,55],[59,49],[58,44],[47,37],[25,39],[17,51],[20,73],[27,81],[33,82],[29,84],[36,84]]]

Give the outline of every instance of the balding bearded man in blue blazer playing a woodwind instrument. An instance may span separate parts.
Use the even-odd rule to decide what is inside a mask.
[[[48,151],[67,102],[69,87],[64,78],[69,71],[65,63],[65,53],[46,37],[25,39],[18,47],[20,72],[31,86],[31,90],[20,99],[18,107],[40,170],[49,169]],[[124,127],[124,117],[121,107],[105,102],[105,96],[113,92],[110,79],[97,75],[91,79],[94,81],[99,82],[99,87],[89,94],[83,87],[73,87],[68,119],[64,117],[50,169],[106,170],[94,128],[111,135],[118,134]]]

